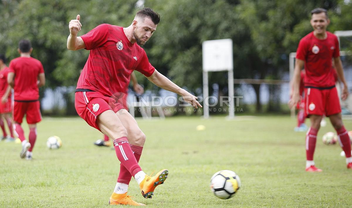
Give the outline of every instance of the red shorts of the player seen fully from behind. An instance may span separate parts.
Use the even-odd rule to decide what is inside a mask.
[[[42,121],[42,113],[40,113],[39,100],[32,102],[15,101],[12,113],[13,120],[21,124],[25,114],[28,124],[36,124]]]

